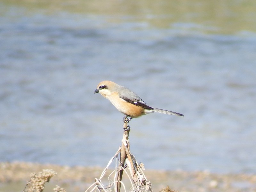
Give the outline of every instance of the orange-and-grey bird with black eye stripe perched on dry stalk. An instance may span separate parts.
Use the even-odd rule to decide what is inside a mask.
[[[131,117],[130,120],[153,112],[183,116],[182,114],[173,111],[149,107],[148,104],[139,97],[139,95],[112,81],[100,82],[94,93],[100,93],[103,97],[110,100],[118,111],[123,113],[125,116]]]

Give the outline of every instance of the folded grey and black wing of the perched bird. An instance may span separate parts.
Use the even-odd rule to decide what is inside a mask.
[[[126,88],[123,91],[118,92],[118,95],[121,99],[133,105],[140,106],[144,109],[154,109],[152,107],[149,107],[148,104],[139,97],[139,95],[132,92],[130,89]]]

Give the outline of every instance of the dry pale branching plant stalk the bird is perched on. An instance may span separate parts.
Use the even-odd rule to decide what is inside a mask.
[[[116,154],[110,159],[107,167],[100,175],[100,178],[95,178],[95,182],[85,192],[120,192],[121,186],[126,192],[128,187],[124,185],[124,182],[122,182],[123,173],[125,173],[130,182],[130,187],[128,188],[129,192],[152,192],[151,183],[147,180],[145,174],[142,171],[144,170],[144,165],[142,163],[139,164],[136,161],[135,156],[133,156],[130,152],[130,144],[128,139],[130,126],[127,125],[130,120],[125,116],[123,121],[124,134],[122,147],[120,147]],[[119,153],[120,159],[118,158]],[[107,176],[108,184],[104,185],[102,180],[104,180],[105,173],[114,159],[116,159],[116,168],[113,172],[110,173],[110,175]],[[128,170],[125,169],[127,167]]]

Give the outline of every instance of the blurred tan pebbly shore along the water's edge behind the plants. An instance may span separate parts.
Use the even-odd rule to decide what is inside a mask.
[[[24,162],[0,163],[0,192],[20,192],[30,180],[32,172],[52,169],[57,175],[46,184],[44,191],[53,191],[56,185],[66,191],[85,191],[95,178],[99,178],[104,168],[82,166],[60,166]],[[107,170],[109,175],[112,170]],[[153,191],[169,186],[175,191],[190,192],[256,192],[256,175],[212,174],[210,172],[157,171],[145,170]],[[108,180],[106,179],[108,182]],[[129,190],[129,189],[128,189]]]

